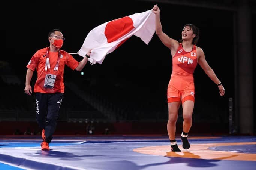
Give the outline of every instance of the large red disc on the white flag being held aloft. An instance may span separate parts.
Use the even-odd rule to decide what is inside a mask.
[[[118,38],[123,37],[125,34],[129,33],[133,28],[134,27],[132,18],[130,18],[129,16],[125,16],[123,18],[115,19],[108,22],[104,33],[108,40],[108,43],[111,43]]]

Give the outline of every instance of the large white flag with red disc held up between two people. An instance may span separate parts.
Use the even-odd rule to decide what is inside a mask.
[[[102,64],[107,54],[121,46],[132,35],[140,37],[148,44],[156,31],[155,27],[152,9],[105,22],[88,33],[78,54],[84,57],[92,49],[88,60],[91,64]]]

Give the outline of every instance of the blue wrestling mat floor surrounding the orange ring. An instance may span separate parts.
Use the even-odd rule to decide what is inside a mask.
[[[221,151],[255,154],[255,136],[193,136],[190,145],[242,143],[209,147],[209,152]],[[40,139],[6,136],[0,138],[0,169],[59,170],[255,170],[256,161],[225,160],[225,158],[186,158],[141,154],[133,149],[169,145],[166,136],[58,136],[49,144],[50,151],[41,151]],[[249,142],[243,145],[244,142]],[[178,145],[181,140],[177,137]],[[165,151],[165,150],[164,150]],[[166,150],[165,152],[169,152]],[[234,155],[233,153],[233,155]],[[191,155],[191,154],[190,154]],[[216,154],[217,156],[217,154]]]

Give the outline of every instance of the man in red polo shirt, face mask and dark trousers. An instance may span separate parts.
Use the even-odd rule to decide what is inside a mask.
[[[36,93],[36,120],[42,128],[42,150],[49,150],[49,143],[56,129],[58,111],[64,93],[63,74],[67,65],[71,69],[81,71],[90,58],[88,52],[80,62],[72,55],[60,50],[64,41],[61,30],[54,29],[48,34],[50,46],[38,50],[28,62],[25,93],[31,95],[30,81],[33,72],[37,71],[37,80],[34,85]]]

